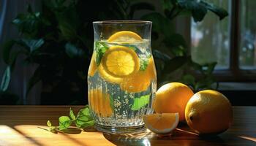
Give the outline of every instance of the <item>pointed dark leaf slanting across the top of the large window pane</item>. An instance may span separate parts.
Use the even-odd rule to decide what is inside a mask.
[[[218,15],[219,20],[222,20],[223,18],[227,17],[227,15],[228,15],[228,12],[221,7],[217,7],[214,4],[211,4],[209,2],[202,1],[202,0],[200,1],[200,3],[204,4],[208,10],[210,10],[211,12],[214,12],[216,15]]]

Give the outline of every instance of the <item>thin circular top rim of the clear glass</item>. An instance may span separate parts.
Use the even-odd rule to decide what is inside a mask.
[[[93,21],[94,24],[152,24],[148,20],[100,20]]]

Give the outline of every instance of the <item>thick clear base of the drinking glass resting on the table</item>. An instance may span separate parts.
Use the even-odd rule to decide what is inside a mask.
[[[102,126],[99,124],[95,125],[95,128],[98,131],[102,131],[108,134],[138,134],[146,131],[146,126],[129,126],[129,127],[111,127],[111,126]]]

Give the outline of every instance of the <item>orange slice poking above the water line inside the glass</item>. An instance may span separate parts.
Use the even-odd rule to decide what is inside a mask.
[[[141,37],[132,31],[118,31],[108,38],[108,42],[135,42],[142,40]]]

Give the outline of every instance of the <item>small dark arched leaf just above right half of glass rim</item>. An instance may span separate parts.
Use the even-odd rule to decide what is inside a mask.
[[[143,10],[143,9],[148,9],[148,10],[154,10],[154,5],[150,4],[150,3],[147,3],[147,2],[138,2],[138,3],[135,3],[135,4],[132,4],[130,7],[129,7],[130,11],[129,11],[129,16],[133,16],[134,15],[134,12],[136,10]]]

